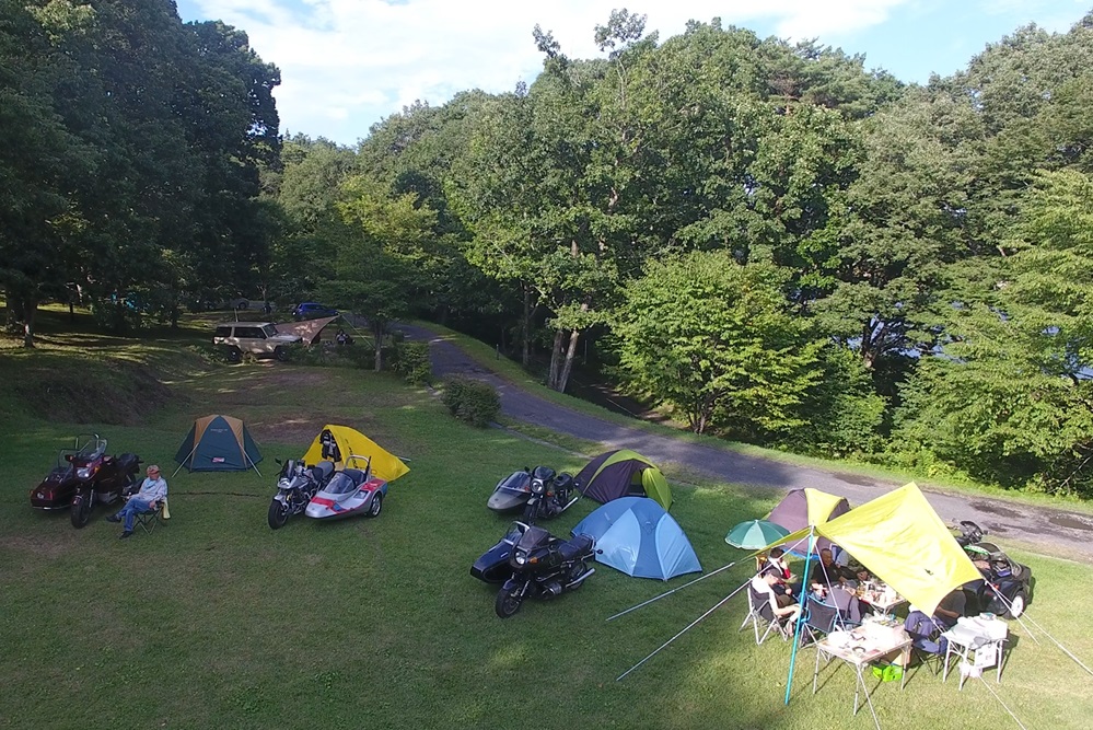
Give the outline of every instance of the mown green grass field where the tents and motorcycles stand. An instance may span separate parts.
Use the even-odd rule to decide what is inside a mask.
[[[743,596],[615,681],[744,581],[744,568],[606,623],[689,578],[663,584],[601,567],[580,592],[497,618],[495,591],[468,575],[508,523],[486,499],[514,468],[574,471],[575,457],[463,426],[428,391],[382,374],[213,366],[165,333],[141,343],[46,339],[36,352],[0,352],[0,727],[872,727],[868,711],[850,718],[846,668],[823,671],[812,695],[811,650],[799,654],[792,700],[782,704],[790,647],[756,647],[737,633]],[[138,370],[118,371],[114,358]],[[57,372],[115,389],[116,424],[58,418],[66,403],[94,402],[78,387],[31,397],[19,385]],[[129,387],[149,372],[167,381],[154,406]],[[67,514],[27,506],[27,490],[77,431],[97,430],[112,451],[136,451],[170,477],[193,419],[211,413],[246,420],[264,476],[168,478],[172,520],[152,535],[118,541],[102,509],[77,531]],[[300,455],[325,422],[359,428],[409,457],[411,472],[392,484],[375,520],[295,518],[274,532],[272,459]],[[673,514],[707,570],[741,557],[724,533],[772,503],[714,483],[676,486],[675,497]],[[593,507],[578,502],[548,526],[568,533]],[[1037,576],[1030,616],[1090,663],[1093,570],[1015,557]],[[1000,696],[1026,727],[1089,727],[1093,677],[1043,635],[1035,644],[1012,630]],[[904,692],[885,684],[873,696],[882,727],[1016,727],[981,684],[957,693],[929,670],[914,671]]]

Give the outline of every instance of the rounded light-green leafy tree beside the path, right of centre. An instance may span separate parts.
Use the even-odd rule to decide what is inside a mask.
[[[800,427],[824,343],[792,314],[784,282],[777,267],[723,251],[650,264],[626,287],[615,323],[623,378],[696,433]]]

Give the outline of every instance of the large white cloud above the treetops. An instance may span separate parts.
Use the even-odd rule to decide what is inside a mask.
[[[783,37],[846,36],[882,23],[908,0],[653,0],[647,33],[683,32],[688,20],[764,23]],[[415,100],[443,104],[466,89],[511,90],[532,81],[542,55],[539,24],[562,51],[598,54],[593,28],[619,0],[191,0],[204,18],[246,31],[251,45],[281,69],[281,128],[352,142],[383,116]],[[637,3],[631,3],[637,5]]]

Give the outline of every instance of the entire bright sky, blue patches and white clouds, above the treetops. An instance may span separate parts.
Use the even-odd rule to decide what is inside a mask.
[[[904,81],[947,76],[1027,23],[1066,32],[1093,0],[177,0],[184,21],[223,20],[246,31],[281,69],[281,131],[352,144],[416,100],[441,105],[458,91],[512,90],[542,67],[536,23],[562,53],[598,55],[593,28],[626,7],[661,39],[690,19],[760,37],[817,38]]]

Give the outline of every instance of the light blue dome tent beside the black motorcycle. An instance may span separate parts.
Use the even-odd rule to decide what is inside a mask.
[[[607,502],[573,528],[596,538],[596,561],[628,576],[667,580],[701,572],[687,535],[652,499],[623,497]]]

